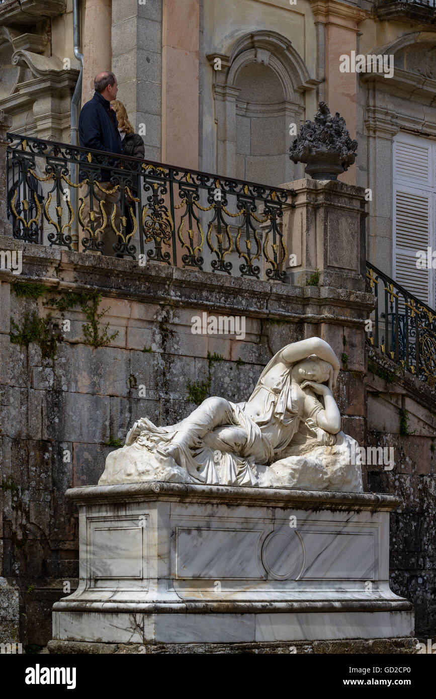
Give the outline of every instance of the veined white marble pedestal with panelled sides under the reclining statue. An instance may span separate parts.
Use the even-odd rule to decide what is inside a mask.
[[[57,652],[68,642],[84,652],[93,643],[96,652],[326,640],[358,651],[375,639],[411,647],[412,605],[388,585],[398,498],[163,482],[66,497],[80,510],[80,584],[54,604]]]

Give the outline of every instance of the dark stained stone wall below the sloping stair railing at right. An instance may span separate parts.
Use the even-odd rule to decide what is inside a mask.
[[[391,589],[415,607],[416,633],[436,632],[436,394],[370,351],[366,377],[368,445],[393,447],[394,467],[367,466],[368,489],[395,493],[391,514]]]

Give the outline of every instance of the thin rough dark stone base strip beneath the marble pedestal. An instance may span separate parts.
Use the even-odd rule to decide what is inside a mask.
[[[54,654],[416,654],[416,638],[353,638],[348,641],[289,643],[89,643],[49,641]]]

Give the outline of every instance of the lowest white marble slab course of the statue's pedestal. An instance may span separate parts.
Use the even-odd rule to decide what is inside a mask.
[[[229,605],[238,610],[237,603]],[[284,606],[284,605],[283,605]],[[288,612],[280,612],[277,603],[270,605],[271,613],[252,603],[245,614],[214,613],[205,611],[166,613],[163,606],[157,614],[138,614],[134,611],[108,614],[105,612],[53,612],[53,637],[62,640],[87,640],[109,643],[231,643],[231,642],[293,642],[323,638],[352,639],[376,637],[403,637],[410,633],[413,614],[401,606],[326,605],[317,602],[286,605]],[[384,611],[365,611],[384,609]],[[300,611],[304,610],[311,611]],[[328,610],[319,611],[314,610]],[[186,609],[186,607],[185,607]]]

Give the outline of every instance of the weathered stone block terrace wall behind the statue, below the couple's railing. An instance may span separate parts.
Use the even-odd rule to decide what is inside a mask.
[[[52,603],[65,596],[65,582],[71,590],[77,584],[78,518],[64,491],[96,484],[110,444],[124,440],[138,417],[171,424],[194,408],[190,398],[217,394],[241,401],[287,343],[320,336],[340,356],[345,336],[348,364],[337,398],[344,431],[363,443],[363,327],[370,294],[140,267],[6,237],[0,248],[23,253],[21,275],[0,271],[0,445],[3,575],[20,589],[24,644],[47,642]],[[17,296],[17,280],[43,282],[48,289],[39,298]],[[87,319],[78,305],[64,312],[71,328],[54,359],[41,356],[42,350],[50,353],[47,343],[31,341],[20,349],[10,342],[9,333],[19,332],[10,317],[24,329],[26,315],[43,319],[52,312],[61,328],[50,298],[95,290],[103,294],[98,312],[108,309],[101,328],[108,322],[109,335],[118,332],[110,346],[87,344]],[[192,334],[191,318],[202,312],[242,315],[245,338]]]

